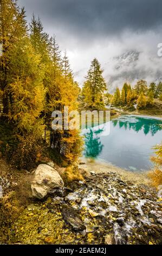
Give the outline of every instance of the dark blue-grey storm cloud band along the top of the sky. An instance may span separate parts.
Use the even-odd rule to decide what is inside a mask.
[[[82,35],[113,35],[128,29],[149,31],[162,23],[161,0],[20,0],[49,23]]]

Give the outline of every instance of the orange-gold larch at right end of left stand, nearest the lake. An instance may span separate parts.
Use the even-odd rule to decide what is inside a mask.
[[[59,51],[58,51],[59,56]],[[73,79],[73,73],[70,69],[67,54],[64,54],[61,72],[56,75],[56,84],[59,91],[59,97],[54,100],[55,109],[60,110],[64,116],[64,107],[70,111],[77,109],[77,97],[79,95],[79,87]],[[51,88],[52,89],[52,88]],[[57,92],[58,94],[58,92]],[[74,130],[56,130],[51,133],[51,148],[54,148],[60,155],[64,157],[68,164],[77,160],[82,150],[82,138],[80,132]]]

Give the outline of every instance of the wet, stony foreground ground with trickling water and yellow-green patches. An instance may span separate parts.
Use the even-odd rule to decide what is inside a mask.
[[[160,244],[161,206],[162,199],[150,186],[126,181],[114,172],[91,172],[85,182],[73,182],[55,196],[43,201],[30,198],[15,220],[10,221],[2,241]],[[0,217],[2,213],[1,204]],[[1,225],[4,228],[4,219]]]

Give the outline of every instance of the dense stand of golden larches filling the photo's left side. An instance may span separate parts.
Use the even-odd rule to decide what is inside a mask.
[[[69,111],[77,109],[80,90],[67,54],[61,57],[55,36],[50,38],[44,32],[40,18],[33,16],[27,28],[25,11],[17,1],[0,4],[1,120],[11,130],[3,151],[18,168],[30,169],[43,143],[46,151],[53,150],[70,164],[82,150],[80,131],[51,129],[53,111],[64,114],[64,106]]]

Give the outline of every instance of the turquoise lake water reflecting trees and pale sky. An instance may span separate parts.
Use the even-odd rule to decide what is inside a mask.
[[[152,167],[152,147],[162,141],[162,119],[141,115],[121,115],[105,127],[83,130],[85,157],[106,161],[128,170]],[[109,135],[106,135],[106,131]]]

